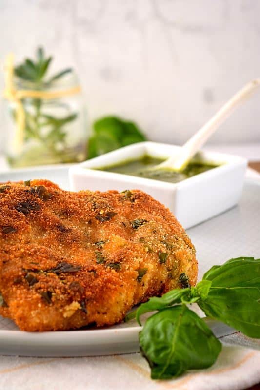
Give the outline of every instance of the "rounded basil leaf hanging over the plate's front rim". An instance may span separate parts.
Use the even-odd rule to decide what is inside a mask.
[[[139,342],[153,379],[168,379],[187,370],[210,367],[221,351],[220,341],[185,305],[149,317]]]

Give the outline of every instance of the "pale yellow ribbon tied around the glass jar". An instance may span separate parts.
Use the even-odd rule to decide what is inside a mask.
[[[5,89],[3,95],[7,100],[16,104],[17,131],[14,139],[14,147],[16,151],[21,150],[24,139],[25,114],[22,105],[23,98],[40,98],[48,100],[72,96],[79,94],[80,92],[80,85],[52,92],[16,89],[14,86],[14,56],[11,53],[8,54],[5,61]]]

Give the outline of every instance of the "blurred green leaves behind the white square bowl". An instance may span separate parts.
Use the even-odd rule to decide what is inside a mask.
[[[88,142],[88,158],[145,140],[146,137],[134,122],[119,117],[104,117],[93,124],[93,135]]]

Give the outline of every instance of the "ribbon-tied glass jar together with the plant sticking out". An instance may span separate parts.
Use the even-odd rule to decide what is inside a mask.
[[[40,47],[35,59],[26,58],[15,67],[12,59],[7,63],[4,95],[13,122],[7,122],[6,154],[13,166],[86,158],[85,114],[78,80],[72,68],[49,76],[52,61]]]

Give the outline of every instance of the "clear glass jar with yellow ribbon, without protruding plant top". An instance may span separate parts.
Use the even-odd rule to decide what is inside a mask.
[[[36,85],[14,78],[16,97],[6,100],[5,155],[12,167],[86,159],[87,123],[75,73]]]

